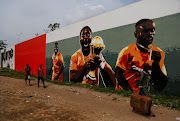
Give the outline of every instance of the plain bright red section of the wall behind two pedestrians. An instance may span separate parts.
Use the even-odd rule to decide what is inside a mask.
[[[31,74],[36,76],[42,64],[46,76],[46,34],[15,45],[15,70],[24,72],[26,63],[31,67]]]

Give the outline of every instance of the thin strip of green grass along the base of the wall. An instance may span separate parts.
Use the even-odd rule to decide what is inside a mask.
[[[0,68],[0,76],[24,79],[24,72],[16,72],[8,68]],[[35,78],[37,77],[32,76],[32,80]],[[45,81],[58,84],[58,85],[63,85],[63,86],[78,86],[78,87],[83,87],[83,88],[89,88],[94,91],[110,93],[110,94],[118,94],[125,97],[129,97],[132,94],[132,91],[115,90],[114,88],[102,88],[102,87],[98,87],[98,86],[94,86],[90,84],[57,82],[57,81],[51,81],[50,79],[47,79],[47,78],[45,78]],[[171,109],[180,110],[180,97],[179,96],[150,94],[150,97],[152,98],[152,102],[155,105],[163,105]],[[112,100],[117,100],[117,97],[113,97]]]

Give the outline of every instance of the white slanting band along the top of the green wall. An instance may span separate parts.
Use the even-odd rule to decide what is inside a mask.
[[[46,43],[79,36],[84,26],[93,32],[136,23],[142,18],[160,18],[180,13],[180,0],[143,0],[46,34]]]

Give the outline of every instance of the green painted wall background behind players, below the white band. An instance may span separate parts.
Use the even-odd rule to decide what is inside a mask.
[[[153,44],[165,52],[165,66],[168,73],[169,82],[162,93],[180,95],[180,13],[154,19],[156,24],[156,35]],[[101,36],[105,43],[105,50],[102,52],[106,61],[115,68],[117,56],[121,49],[136,42],[134,37],[135,24],[129,24],[108,30],[93,33],[94,36]],[[80,31],[80,30],[79,30]],[[71,55],[80,48],[79,36],[57,41],[59,51],[62,53],[65,68],[64,81],[69,80],[69,63]],[[54,43],[46,45],[46,70],[51,66],[51,57],[53,54]]]

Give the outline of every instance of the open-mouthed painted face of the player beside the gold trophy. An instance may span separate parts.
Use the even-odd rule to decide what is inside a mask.
[[[91,30],[89,30],[89,29],[82,30],[81,36],[80,36],[80,44],[81,44],[83,52],[89,52],[90,51],[90,45],[89,44],[91,43],[91,39],[92,39]]]

